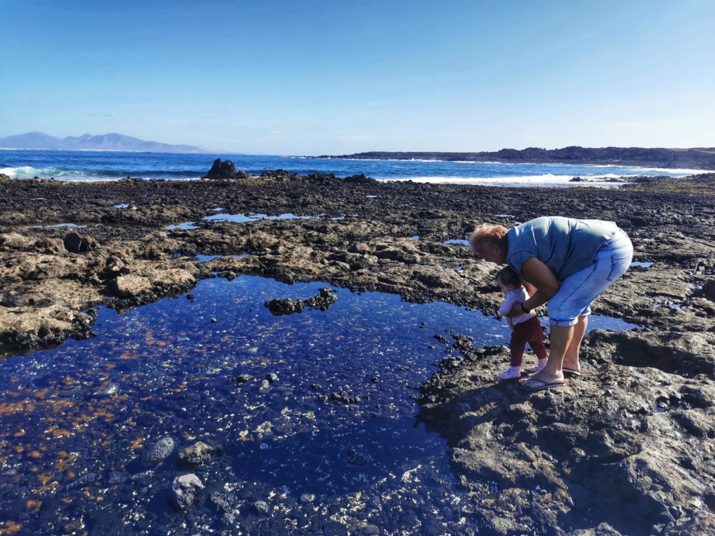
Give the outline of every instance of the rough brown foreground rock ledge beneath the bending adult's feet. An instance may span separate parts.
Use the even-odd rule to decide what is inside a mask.
[[[625,338],[593,332],[583,376],[558,389],[495,380],[503,347],[463,349],[422,387],[420,419],[489,533],[715,534],[715,382],[632,366]]]

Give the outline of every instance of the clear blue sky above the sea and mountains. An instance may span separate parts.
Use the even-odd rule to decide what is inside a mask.
[[[0,0],[0,137],[715,147],[712,0]]]

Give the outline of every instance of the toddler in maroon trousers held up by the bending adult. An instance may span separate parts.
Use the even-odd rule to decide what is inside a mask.
[[[510,267],[502,268],[496,274],[496,284],[499,285],[501,292],[504,293],[506,299],[501,307],[499,314],[506,317],[511,327],[511,367],[505,372],[499,374],[501,379],[512,379],[521,377],[521,359],[526,349],[526,343],[529,343],[531,349],[536,353],[538,364],[531,367],[531,372],[538,372],[543,367],[546,367],[546,347],[543,345],[543,332],[541,331],[541,322],[533,312],[520,314],[518,317],[511,317],[509,312],[515,303],[524,302],[528,299],[526,289],[521,284],[518,275]]]

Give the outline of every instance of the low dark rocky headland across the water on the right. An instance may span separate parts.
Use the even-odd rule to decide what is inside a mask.
[[[443,160],[445,162],[507,162],[518,164],[599,164],[661,168],[715,169],[715,147],[646,149],[643,147],[564,147],[563,149],[501,149],[496,152],[386,152],[373,151],[313,158],[371,160]]]

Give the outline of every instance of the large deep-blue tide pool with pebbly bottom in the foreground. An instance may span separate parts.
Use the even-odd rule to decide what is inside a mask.
[[[452,334],[505,344],[506,322],[346,289],[324,312],[275,317],[265,307],[323,286],[207,279],[193,299],[102,307],[97,337],[1,361],[0,524],[21,534],[82,533],[72,523],[92,535],[207,534],[227,528],[210,498],[218,493],[244,534],[355,534],[368,522],[380,534],[477,530],[445,440],[415,422],[413,394],[453,352]],[[591,327],[626,327],[618,322]],[[242,374],[250,379],[235,381]],[[267,374],[277,381],[261,390]],[[162,437],[174,453],[139,462]],[[196,471],[204,498],[184,514],[169,490],[185,472],[177,451],[199,440],[223,455]],[[257,513],[257,501],[272,514]]]

